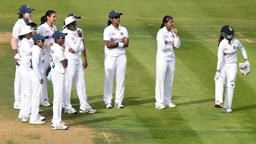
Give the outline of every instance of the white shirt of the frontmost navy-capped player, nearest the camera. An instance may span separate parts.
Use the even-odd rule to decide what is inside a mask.
[[[66,73],[66,68],[62,66],[62,60],[65,60],[66,58],[64,57],[64,48],[62,48],[60,45],[54,43],[53,46],[51,46],[51,71],[52,73],[61,73],[64,74]]]

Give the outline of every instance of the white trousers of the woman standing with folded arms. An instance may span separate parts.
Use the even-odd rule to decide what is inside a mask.
[[[104,103],[111,103],[113,80],[116,76],[116,99],[115,103],[121,102],[125,96],[125,72],[126,72],[126,55],[108,56],[104,60]]]

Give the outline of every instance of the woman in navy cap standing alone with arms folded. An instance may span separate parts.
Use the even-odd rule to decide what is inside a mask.
[[[125,72],[126,55],[125,48],[129,45],[129,34],[125,27],[120,26],[120,15],[117,11],[109,13],[108,27],[104,29],[105,41],[104,59],[104,103],[107,109],[111,109],[113,80],[116,76],[115,107],[124,108],[122,105],[125,96]]]

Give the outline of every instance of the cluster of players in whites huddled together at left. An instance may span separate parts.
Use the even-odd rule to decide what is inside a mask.
[[[74,82],[80,100],[80,113],[96,113],[88,103],[84,72],[88,66],[83,42],[83,31],[76,27],[81,17],[69,14],[64,28],[57,30],[56,13],[48,10],[37,27],[30,20],[32,11],[28,5],[20,7],[19,20],[13,27],[11,45],[16,64],[14,80],[14,109],[20,110],[18,118],[30,124],[44,124],[45,117],[39,113],[40,104],[50,106],[47,92],[48,79],[53,83],[53,130],[65,130],[61,121],[65,113],[77,113],[71,103],[71,88]],[[80,54],[83,54],[83,60]]]

